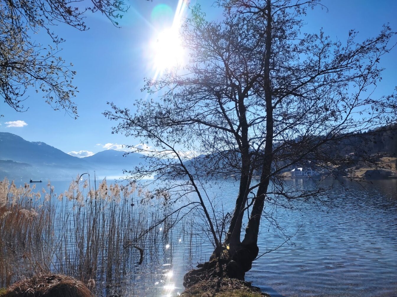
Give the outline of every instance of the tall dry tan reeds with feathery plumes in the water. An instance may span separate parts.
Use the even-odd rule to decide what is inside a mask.
[[[57,195],[0,181],[0,287],[37,273],[73,276],[95,295],[120,294],[141,260],[154,262],[170,240],[169,209],[161,196],[131,184],[98,187],[77,178]],[[158,228],[162,226],[163,232]],[[93,283],[96,281],[96,286]]]

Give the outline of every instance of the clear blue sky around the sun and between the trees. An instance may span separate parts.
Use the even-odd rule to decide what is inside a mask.
[[[211,7],[212,0],[197,2],[209,19],[219,17],[220,11]],[[0,118],[0,131],[14,133],[28,141],[43,141],[64,152],[83,150],[95,153],[117,148],[117,145],[139,144],[137,139],[111,134],[115,123],[106,120],[102,112],[108,109],[107,101],[133,110],[133,101],[146,96],[140,91],[143,78],[155,74],[150,43],[159,31],[171,25],[177,3],[130,1],[130,9],[120,21],[121,28],[114,27],[101,15],[91,13],[86,19],[90,27],[88,31],[80,32],[65,25],[54,27],[54,31],[66,39],[61,45],[62,58],[72,62],[73,70],[77,71],[73,84],[79,89],[74,99],[79,118],[74,120],[62,110],[53,111],[40,95],[32,92],[25,101],[29,106],[26,112],[15,112],[5,103],[0,103],[0,114],[4,114]],[[385,23],[397,31],[395,0],[324,0],[322,4],[329,9],[328,13],[320,8],[308,11],[303,31],[318,32],[323,28],[331,38],[342,41],[349,29],[359,31],[360,40],[375,36]],[[38,34],[36,38],[43,44],[49,43],[46,34]],[[389,94],[397,85],[397,48],[381,60],[381,65],[386,70],[377,93]],[[10,125],[15,121],[23,121],[27,125],[23,122]]]

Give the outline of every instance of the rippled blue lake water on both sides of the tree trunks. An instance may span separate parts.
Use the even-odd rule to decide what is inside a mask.
[[[312,181],[291,179],[290,185]],[[293,202],[293,210],[269,206],[280,228],[263,220],[259,253],[274,249],[287,236],[289,244],[254,261],[246,280],[272,297],[280,296],[396,296],[397,295],[397,179],[360,185],[334,184],[324,203]],[[66,184],[55,182],[58,189]],[[233,209],[237,183],[214,184],[209,196]],[[291,202],[292,203],[292,202]],[[191,219],[198,231],[197,221]],[[158,232],[162,232],[159,228]],[[212,246],[205,234],[187,236],[175,229],[159,250],[158,259],[146,259],[137,267],[131,296],[176,295],[183,291],[183,275],[208,260]],[[167,246],[166,246],[167,244]],[[171,285],[169,285],[171,284]],[[167,287],[168,286],[168,287]]]

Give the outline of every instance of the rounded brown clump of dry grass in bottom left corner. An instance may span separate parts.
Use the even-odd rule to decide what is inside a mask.
[[[16,282],[3,297],[91,297],[82,282],[61,274],[40,274]]]

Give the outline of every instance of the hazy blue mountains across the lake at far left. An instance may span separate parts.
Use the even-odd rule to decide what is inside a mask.
[[[142,154],[104,150],[77,158],[44,142],[30,142],[12,133],[0,132],[0,178],[63,180],[96,171],[97,175],[118,176],[145,162]]]

